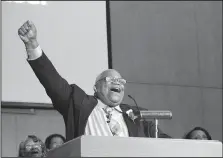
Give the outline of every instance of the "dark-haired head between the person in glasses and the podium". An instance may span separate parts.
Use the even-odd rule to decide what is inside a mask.
[[[45,145],[48,150],[57,148],[65,142],[65,138],[60,134],[51,134],[45,140]]]

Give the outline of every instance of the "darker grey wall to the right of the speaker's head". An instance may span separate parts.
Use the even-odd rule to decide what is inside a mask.
[[[111,1],[110,12],[113,68],[126,94],[171,110],[160,127],[175,138],[201,126],[222,141],[222,2]]]

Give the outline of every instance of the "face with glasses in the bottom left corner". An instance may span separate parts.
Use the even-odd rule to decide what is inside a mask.
[[[24,153],[26,157],[41,157],[42,147],[40,142],[33,142],[32,139],[28,139],[25,143]]]

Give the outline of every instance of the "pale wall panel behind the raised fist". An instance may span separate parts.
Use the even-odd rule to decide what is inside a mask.
[[[27,20],[35,24],[41,48],[69,83],[93,94],[95,76],[108,68],[105,1],[45,3],[2,2],[3,101],[51,103],[18,36]]]

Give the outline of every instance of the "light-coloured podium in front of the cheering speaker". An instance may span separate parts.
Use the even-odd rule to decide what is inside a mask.
[[[219,141],[81,136],[48,153],[54,157],[222,157]]]

